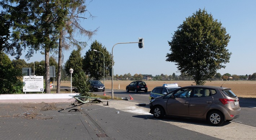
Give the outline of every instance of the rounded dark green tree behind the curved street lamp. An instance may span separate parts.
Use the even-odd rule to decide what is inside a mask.
[[[99,52],[93,50],[97,50]],[[105,61],[102,53],[100,52],[104,54]],[[105,77],[106,75],[109,75],[109,71],[112,67],[111,63],[111,54],[107,51],[105,46],[102,46],[102,44],[96,40],[91,44],[91,48],[85,53],[83,70],[85,71],[85,74],[89,75],[89,78],[100,80],[104,75],[103,70],[105,70]]]

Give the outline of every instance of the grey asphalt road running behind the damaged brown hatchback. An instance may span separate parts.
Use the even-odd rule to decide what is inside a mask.
[[[128,99],[133,98],[132,101],[148,104],[150,92],[126,92],[125,90],[114,90],[114,97],[126,97]],[[93,92],[93,94],[103,95],[103,92]],[[112,95],[111,89],[105,90],[106,95]],[[256,99],[255,98],[239,98],[239,104],[241,107],[240,117],[232,120],[244,125],[250,125],[256,127]]]

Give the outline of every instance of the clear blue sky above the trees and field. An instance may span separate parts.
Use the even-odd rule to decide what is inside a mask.
[[[114,75],[180,75],[175,63],[165,61],[166,54],[170,53],[168,41],[187,17],[204,8],[222,23],[231,36],[227,47],[232,53],[230,62],[225,64],[225,69],[217,72],[221,75],[256,73],[255,0],[87,0],[87,4],[88,11],[95,17],[81,20],[81,24],[86,29],[99,29],[91,40],[77,36],[88,43],[82,56],[94,40],[102,43],[111,53],[116,43],[137,42],[139,37],[144,38],[145,47],[142,49],[137,43],[114,47]],[[64,62],[71,51],[64,52]],[[21,59],[26,60],[25,53]],[[44,56],[37,53],[26,61],[39,59],[44,59]]]

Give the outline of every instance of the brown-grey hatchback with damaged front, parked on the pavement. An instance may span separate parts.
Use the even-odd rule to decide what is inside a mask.
[[[150,101],[155,118],[164,115],[207,120],[213,126],[240,115],[238,97],[230,88],[192,85],[176,89]]]

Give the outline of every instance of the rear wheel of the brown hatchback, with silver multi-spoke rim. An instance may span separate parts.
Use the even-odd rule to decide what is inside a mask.
[[[224,116],[220,111],[211,111],[207,115],[207,121],[212,126],[220,126],[224,122]]]

